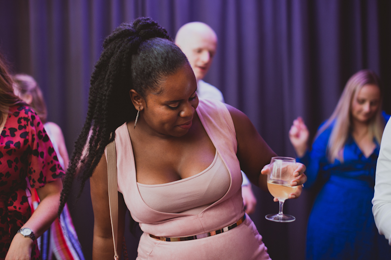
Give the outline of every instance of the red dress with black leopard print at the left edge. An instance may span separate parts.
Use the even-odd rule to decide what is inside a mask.
[[[37,114],[26,106],[9,108],[0,134],[0,259],[6,257],[17,231],[31,216],[26,189],[61,178],[53,145]],[[37,240],[32,259],[40,259]]]

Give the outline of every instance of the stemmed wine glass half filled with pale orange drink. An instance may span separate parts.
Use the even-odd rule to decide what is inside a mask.
[[[283,214],[282,207],[289,194],[297,189],[296,186],[290,185],[291,180],[295,178],[293,172],[296,169],[296,160],[290,157],[273,157],[269,168],[271,171],[268,173],[268,189],[270,194],[278,198],[280,210],[278,214],[269,214],[265,217],[275,222],[292,222],[295,217]]]

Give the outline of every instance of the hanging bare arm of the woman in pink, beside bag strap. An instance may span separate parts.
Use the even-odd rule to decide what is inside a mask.
[[[110,208],[107,181],[107,162],[105,154],[90,178],[91,200],[94,210],[94,238],[92,259],[113,259],[114,243],[111,232]],[[117,253],[121,257],[122,239],[125,231],[126,204],[118,192],[118,238]]]

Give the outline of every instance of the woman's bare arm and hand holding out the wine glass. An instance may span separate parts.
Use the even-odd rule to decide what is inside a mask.
[[[277,154],[267,145],[253,123],[243,112],[227,104],[226,107],[235,126],[236,139],[238,141],[236,155],[240,162],[240,168],[246,172],[252,183],[268,192],[267,174],[270,171],[268,164],[271,158],[277,156]],[[291,181],[291,186],[300,186],[296,189],[296,192],[289,195],[289,198],[300,196],[302,191],[301,184],[307,180],[304,171],[305,166],[297,163],[297,168],[294,172],[296,178]]]

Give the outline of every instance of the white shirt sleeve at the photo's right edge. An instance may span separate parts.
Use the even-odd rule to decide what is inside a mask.
[[[391,245],[391,120],[385,126],[381,139],[372,204],[377,229]]]

